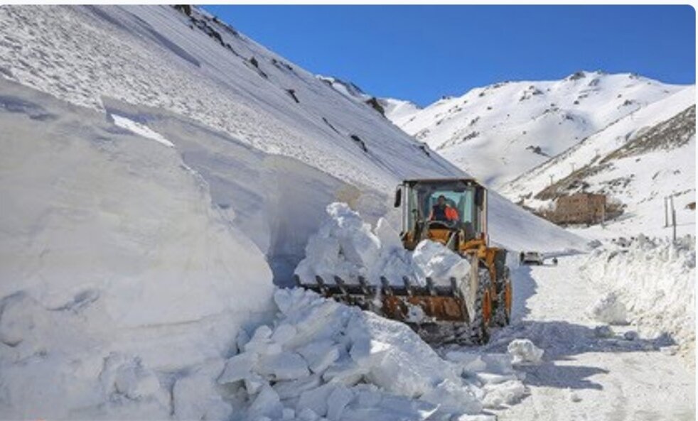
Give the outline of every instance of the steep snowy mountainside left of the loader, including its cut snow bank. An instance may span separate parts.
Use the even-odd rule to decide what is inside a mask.
[[[0,31],[6,417],[230,418],[215,378],[326,205],[394,222],[399,180],[464,175],[198,9],[2,6]],[[489,214],[509,248],[584,247]]]

